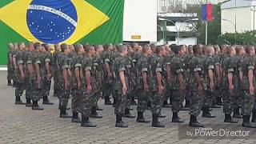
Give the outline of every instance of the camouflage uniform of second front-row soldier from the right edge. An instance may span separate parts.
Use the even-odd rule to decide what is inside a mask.
[[[222,88],[223,88],[223,112],[225,114],[231,114],[232,109],[234,108],[234,94],[238,94],[238,65],[236,62],[236,58],[227,56],[223,62],[223,80],[222,80]],[[230,93],[229,90],[229,80],[228,74],[233,74],[233,86],[234,92]]]

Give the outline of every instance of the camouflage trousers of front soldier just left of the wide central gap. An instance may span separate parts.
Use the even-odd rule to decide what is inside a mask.
[[[86,94],[85,90],[80,90],[80,93],[81,93],[81,97],[80,97],[81,114],[85,115],[86,117],[89,117],[91,108],[92,106],[94,106],[94,103],[93,103],[94,94]]]

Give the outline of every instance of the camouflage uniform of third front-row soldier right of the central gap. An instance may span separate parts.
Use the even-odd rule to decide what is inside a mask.
[[[158,82],[157,82],[157,76],[156,73],[160,72],[162,74],[163,69],[164,69],[164,58],[161,58],[158,54],[154,55],[153,58],[150,59],[150,85],[149,85],[149,90],[151,90],[151,112],[152,114],[160,114],[161,109],[162,109],[162,104],[163,104],[163,95],[164,94],[159,94],[158,93]],[[166,84],[164,82],[162,75],[162,84],[165,87]]]

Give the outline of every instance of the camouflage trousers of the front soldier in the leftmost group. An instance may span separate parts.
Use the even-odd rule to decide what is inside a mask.
[[[38,82],[36,79],[30,80],[30,98],[32,101],[40,101],[42,96],[42,88],[38,86]]]

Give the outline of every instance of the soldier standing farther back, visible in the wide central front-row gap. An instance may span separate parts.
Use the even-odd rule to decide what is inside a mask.
[[[110,95],[113,91],[113,63],[110,62],[111,54],[113,50],[113,46],[111,44],[104,46],[104,51],[102,53],[102,59],[103,59],[103,70],[104,70],[104,83],[102,90],[103,97],[105,98],[105,105],[112,105],[110,101]]]

